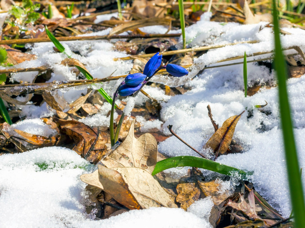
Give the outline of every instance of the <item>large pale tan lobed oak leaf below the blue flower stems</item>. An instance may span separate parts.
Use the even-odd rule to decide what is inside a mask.
[[[82,175],[81,180],[102,187],[129,209],[177,207],[174,198],[151,175],[157,160],[156,139],[149,133],[136,139],[134,125],[135,120],[124,142],[101,160],[106,167],[99,165],[99,170]],[[96,178],[88,181],[97,175],[100,184],[96,184]]]

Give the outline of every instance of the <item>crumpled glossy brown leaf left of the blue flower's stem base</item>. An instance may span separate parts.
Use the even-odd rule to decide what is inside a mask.
[[[89,162],[96,164],[107,152],[106,143],[110,142],[107,132],[97,127],[89,127],[76,120],[62,120],[54,118],[61,133],[69,135],[76,145],[72,148]]]

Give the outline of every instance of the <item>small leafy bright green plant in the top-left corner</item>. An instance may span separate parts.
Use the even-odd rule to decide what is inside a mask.
[[[12,23],[13,26],[20,26],[27,23],[35,22],[39,17],[40,14],[35,12],[40,9],[40,4],[34,4],[31,0],[23,0],[22,6],[14,5],[12,9],[9,10],[16,19],[19,20],[7,20],[8,23]]]

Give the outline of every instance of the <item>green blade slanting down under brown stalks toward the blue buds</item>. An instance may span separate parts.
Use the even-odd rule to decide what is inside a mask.
[[[59,43],[59,41],[53,36],[53,34],[48,30],[47,27],[45,27],[45,31],[49,37],[49,39],[52,41],[52,43],[55,45],[55,47],[60,51],[66,54],[65,52],[65,48],[63,47],[63,45],[61,45]],[[69,58],[71,58],[71,56],[69,56],[68,54],[66,54]],[[87,79],[92,80],[93,77],[92,75],[85,70],[84,68],[81,68],[80,66],[75,66]],[[105,100],[107,100],[110,104],[112,104],[112,98],[108,95],[108,93],[106,93],[106,91],[103,88],[98,89],[99,93],[102,94],[102,96],[105,98]]]

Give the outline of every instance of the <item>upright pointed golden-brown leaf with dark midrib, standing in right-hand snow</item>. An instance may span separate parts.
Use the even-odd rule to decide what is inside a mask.
[[[224,121],[221,128],[218,128],[212,137],[206,142],[206,144],[203,146],[203,149],[213,149],[214,153],[216,153],[216,156],[219,153],[225,153],[232,141],[236,124],[244,112],[245,111],[236,116],[231,116],[226,121]]]

